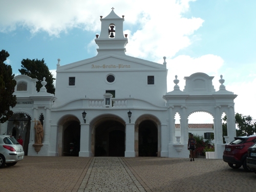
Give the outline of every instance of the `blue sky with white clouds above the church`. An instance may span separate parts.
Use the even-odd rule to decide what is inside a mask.
[[[95,34],[100,15],[111,8],[125,15],[126,54],[163,63],[166,56],[168,91],[178,75],[203,72],[220,75],[234,92],[235,111],[256,119],[256,1],[254,0],[0,0],[0,50],[18,75],[22,59],[45,59],[50,70],[97,54]],[[201,118],[207,118],[201,116]]]

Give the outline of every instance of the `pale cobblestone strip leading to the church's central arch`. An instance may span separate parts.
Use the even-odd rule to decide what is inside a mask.
[[[145,191],[118,157],[95,157],[79,187],[82,191]]]

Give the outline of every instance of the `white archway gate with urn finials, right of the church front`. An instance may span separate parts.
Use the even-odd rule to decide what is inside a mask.
[[[196,111],[207,112],[214,117],[215,130],[215,158],[221,159],[224,145],[222,139],[222,114],[227,115],[227,137],[226,141],[236,137],[236,119],[234,118],[234,99],[237,97],[233,92],[226,90],[223,83],[224,79],[219,80],[221,86],[219,91],[215,91],[212,86],[214,77],[205,73],[194,73],[186,80],[185,88],[180,90],[177,75],[174,83],[174,91],[166,93],[163,98],[166,100],[168,108],[168,156],[169,157],[188,157],[188,116]],[[181,142],[175,141],[175,114],[180,114]]]

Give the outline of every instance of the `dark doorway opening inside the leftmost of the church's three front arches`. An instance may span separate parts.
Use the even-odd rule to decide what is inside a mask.
[[[80,151],[80,123],[70,121],[65,125],[67,128],[63,133],[63,155],[78,157]]]

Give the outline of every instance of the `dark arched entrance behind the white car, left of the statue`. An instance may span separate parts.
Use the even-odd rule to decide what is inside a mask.
[[[12,135],[15,139],[22,136],[25,155],[28,155],[28,146],[30,138],[31,117],[26,113],[15,113],[8,120],[8,129],[6,135]]]

